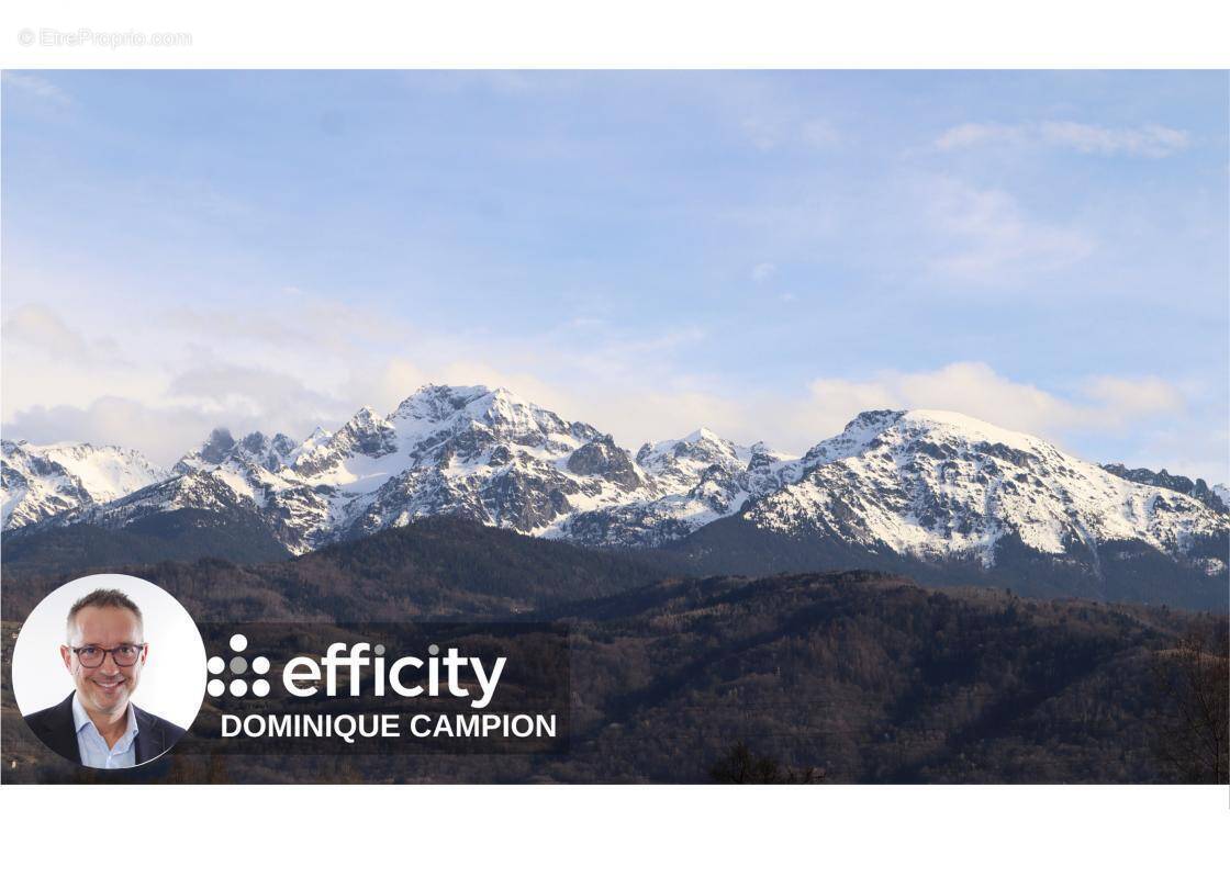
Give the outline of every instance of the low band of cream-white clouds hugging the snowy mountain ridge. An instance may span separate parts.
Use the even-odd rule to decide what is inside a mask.
[[[501,369],[481,357],[432,368],[394,357],[379,368],[353,371],[339,392],[326,395],[289,375],[216,365],[177,376],[170,391],[153,401],[102,396],[84,406],[31,406],[6,419],[4,432],[32,441],[128,445],[169,465],[214,427],[236,434],[280,430],[303,439],[316,425],[336,429],[359,405],[389,412],[430,382],[508,387],[565,418],[613,433],[633,451],[645,441],[681,437],[704,425],[739,443],[765,440],[801,454],[862,411],[940,408],[1039,435],[1077,454],[1097,437],[1134,433],[1144,441],[1138,465],[1192,462],[1191,456],[1180,456],[1181,443],[1148,439],[1153,433],[1145,428],[1173,429],[1184,423],[1188,409],[1184,394],[1159,378],[1091,376],[1060,396],[1000,375],[985,363],[884,370],[866,380],[818,378],[798,394],[732,392],[685,374],[603,376],[583,369],[545,375],[533,366]],[[1151,460],[1148,455],[1155,446],[1161,456]],[[1188,455],[1193,453],[1203,454],[1204,448],[1189,448]],[[1178,471],[1221,477],[1216,473],[1224,466],[1212,467],[1203,457],[1196,462],[1203,469]]]

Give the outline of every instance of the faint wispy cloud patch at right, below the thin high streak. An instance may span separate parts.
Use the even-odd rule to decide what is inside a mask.
[[[1080,229],[1053,225],[1025,214],[1000,189],[978,189],[952,178],[931,181],[932,231],[942,236],[927,267],[942,278],[1011,285],[1055,271],[1093,252],[1095,241]]]

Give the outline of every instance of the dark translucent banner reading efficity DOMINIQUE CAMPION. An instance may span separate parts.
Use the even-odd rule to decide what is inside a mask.
[[[558,625],[205,625],[205,702],[184,754],[561,754]]]

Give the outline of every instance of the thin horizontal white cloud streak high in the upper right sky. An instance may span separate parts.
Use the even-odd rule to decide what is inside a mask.
[[[1187,132],[1165,125],[1109,128],[1081,122],[1037,122],[1001,124],[967,122],[943,132],[935,141],[943,151],[974,146],[1044,146],[1070,149],[1086,155],[1128,155],[1164,159],[1191,143]]]

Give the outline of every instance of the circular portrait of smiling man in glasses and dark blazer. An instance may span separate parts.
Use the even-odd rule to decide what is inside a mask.
[[[154,583],[74,579],[39,601],[12,653],[12,690],[48,748],[91,769],[157,759],[197,718],[205,647],[188,611]]]

